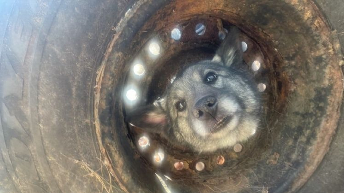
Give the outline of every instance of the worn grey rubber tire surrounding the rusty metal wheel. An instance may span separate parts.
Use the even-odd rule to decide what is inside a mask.
[[[90,106],[112,29],[134,2],[0,2],[0,192],[105,191],[85,167],[101,165]],[[344,3],[315,2],[344,32]],[[344,190],[343,139],[342,114],[329,153],[300,192]]]

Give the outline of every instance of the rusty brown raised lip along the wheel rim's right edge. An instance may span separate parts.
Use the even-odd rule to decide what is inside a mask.
[[[322,34],[321,41],[323,42],[323,45],[326,45],[324,48],[325,52],[331,55],[331,60],[326,71],[326,75],[328,77],[328,81],[326,81],[326,83],[327,85],[332,85],[333,88],[332,94],[328,99],[329,107],[327,108],[326,116],[320,126],[317,139],[312,146],[309,160],[305,164],[303,172],[300,173],[299,177],[294,180],[290,192],[297,191],[304,183],[308,181],[315,169],[319,166],[327,151],[330,149],[330,143],[337,128],[338,118],[340,117],[340,106],[342,104],[342,100],[338,99],[343,98],[344,89],[343,81],[338,81],[343,80],[343,72],[341,68],[338,68],[338,66],[341,64],[341,55],[335,55],[335,53],[338,53],[339,50],[336,50],[335,46],[333,46],[339,44],[337,37],[334,37],[331,33],[330,26],[325,22],[326,20],[314,2],[308,1],[309,4],[298,4],[294,1],[294,3],[294,5],[297,5],[297,7],[303,10],[303,13],[307,19],[311,17],[310,14],[313,17],[314,15],[318,16],[315,21],[313,20],[313,22],[310,22],[309,24],[314,30],[320,29],[320,33]]]

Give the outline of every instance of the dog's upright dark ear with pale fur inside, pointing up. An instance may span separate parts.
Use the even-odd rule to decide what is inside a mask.
[[[243,50],[239,39],[237,27],[231,27],[226,37],[212,60],[213,62],[223,63],[225,66],[241,63],[243,61]]]

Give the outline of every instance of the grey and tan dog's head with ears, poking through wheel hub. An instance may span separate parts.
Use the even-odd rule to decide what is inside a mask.
[[[128,122],[198,152],[230,147],[252,136],[260,101],[254,81],[230,67],[243,63],[237,31],[229,31],[213,60],[182,70],[161,99],[133,111]]]

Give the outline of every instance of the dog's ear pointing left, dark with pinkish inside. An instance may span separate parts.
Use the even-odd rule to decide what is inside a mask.
[[[139,107],[128,113],[126,121],[150,133],[162,133],[170,125],[167,113],[154,104]]]

